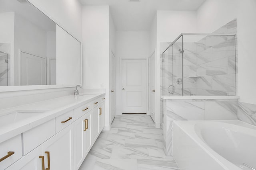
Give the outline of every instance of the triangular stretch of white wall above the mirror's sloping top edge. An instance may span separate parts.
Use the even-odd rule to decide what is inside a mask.
[[[82,42],[82,5],[79,0],[28,1]]]

